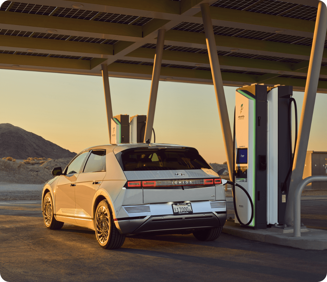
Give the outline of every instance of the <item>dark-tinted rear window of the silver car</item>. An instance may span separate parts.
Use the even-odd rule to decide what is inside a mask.
[[[137,148],[122,152],[124,171],[211,169],[194,148]]]

